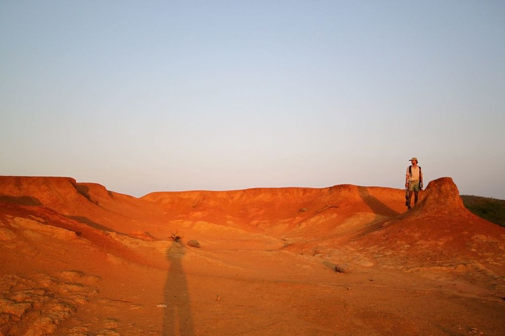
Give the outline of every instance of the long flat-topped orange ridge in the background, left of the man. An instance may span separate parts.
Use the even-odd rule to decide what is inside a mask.
[[[228,220],[247,226],[262,222],[286,225],[318,216],[318,221],[336,223],[355,213],[392,216],[405,211],[403,191],[385,187],[363,187],[352,184],[325,188],[281,187],[250,188],[229,191],[152,192],[143,197],[167,216],[223,222]],[[319,222],[318,222],[319,223]],[[294,225],[294,224],[293,224]]]

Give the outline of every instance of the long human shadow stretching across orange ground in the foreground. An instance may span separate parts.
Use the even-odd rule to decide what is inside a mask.
[[[186,275],[182,259],[186,247],[174,242],[167,250],[170,269],[165,283],[164,302],[167,305],[163,315],[163,335],[193,335],[193,319]]]

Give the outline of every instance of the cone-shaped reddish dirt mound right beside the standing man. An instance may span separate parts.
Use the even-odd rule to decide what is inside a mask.
[[[501,270],[504,238],[505,230],[468,211],[456,184],[443,177],[428,184],[412,210],[378,223],[357,243],[376,255],[418,264],[455,265],[466,258]]]

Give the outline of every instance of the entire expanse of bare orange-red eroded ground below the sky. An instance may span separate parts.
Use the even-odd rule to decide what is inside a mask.
[[[1,176],[0,335],[504,334],[505,229],[404,195]]]

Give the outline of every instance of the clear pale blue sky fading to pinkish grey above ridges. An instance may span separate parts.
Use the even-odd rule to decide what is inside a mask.
[[[503,1],[0,0],[0,175],[505,199]]]

